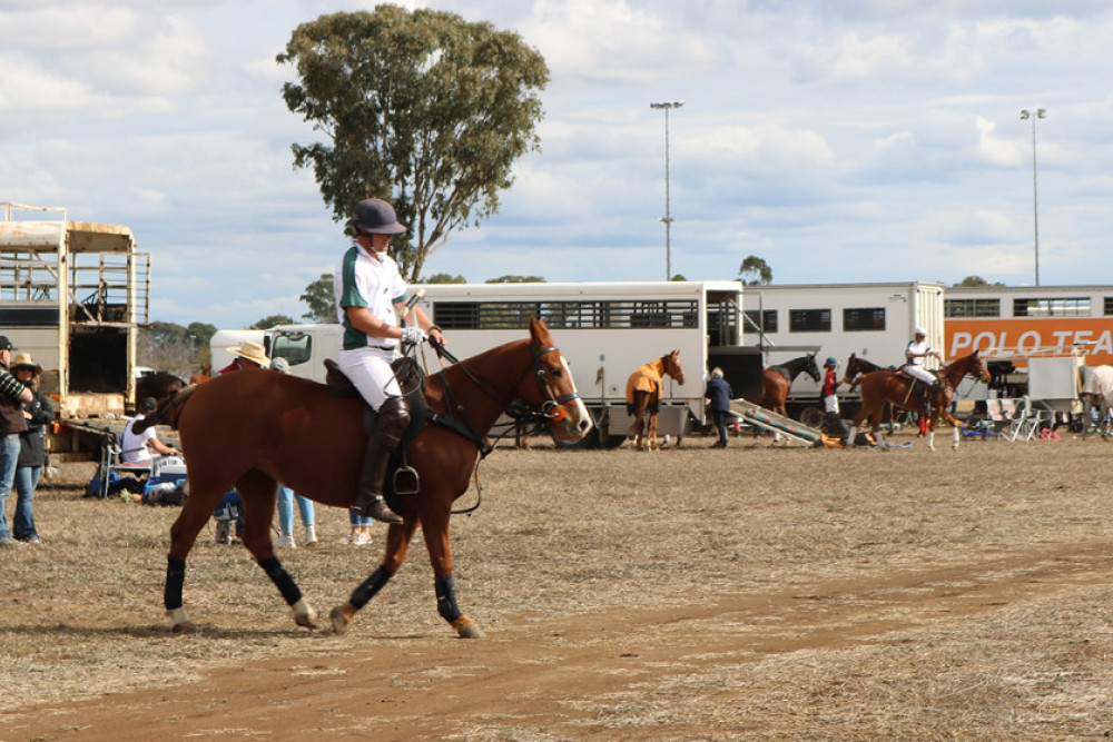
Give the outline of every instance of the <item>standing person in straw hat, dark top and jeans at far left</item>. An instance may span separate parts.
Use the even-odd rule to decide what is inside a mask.
[[[16,462],[16,515],[11,521],[11,533],[17,541],[39,544],[42,540],[35,527],[35,488],[39,486],[42,467],[47,463],[46,427],[55,422],[55,408],[45,394],[39,392],[39,374],[42,366],[35,363],[29,353],[17,353],[12,358],[12,376],[31,389],[33,398],[23,405],[27,429],[19,434],[19,458]]]

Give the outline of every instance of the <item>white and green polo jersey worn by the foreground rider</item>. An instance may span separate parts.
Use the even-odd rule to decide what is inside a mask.
[[[366,307],[383,323],[398,324],[394,305],[406,300],[410,288],[394,258],[385,253],[374,257],[353,243],[333,274],[333,290],[336,295],[336,319],[344,326],[344,350],[367,345],[377,348],[397,346],[398,342],[393,337],[371,337],[353,327],[346,311],[347,307]]]

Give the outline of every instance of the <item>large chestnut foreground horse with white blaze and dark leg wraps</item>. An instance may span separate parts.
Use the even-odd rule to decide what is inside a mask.
[[[538,319],[530,320],[529,339],[501,345],[430,376],[425,398],[436,424],[417,434],[407,454],[421,491],[401,497],[395,509],[404,522],[390,526],[382,564],[346,603],[333,609],[337,633],[402,566],[421,525],[435,574],[437,612],[460,636],[483,636],[456,604],[449,518],[453,501],[467,491],[481,451],[490,452],[486,432],[515,399],[545,421],[558,439],[579,441],[592,427],[568,362]],[[167,557],[164,603],[171,629],[193,627],[181,600],[186,557],[233,486],[244,501],[244,545],[292,607],[294,622],[316,627],[316,611],[272,547],[276,487],[282,482],[318,503],[351,506],[366,439],[363,400],[308,379],[244,369],[186,388],[147,419],[177,427],[189,467],[189,496],[170,528]]]

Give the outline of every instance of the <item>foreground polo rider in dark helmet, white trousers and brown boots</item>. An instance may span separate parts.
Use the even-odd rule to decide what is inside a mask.
[[[406,230],[394,208],[377,198],[364,199],[356,204],[348,224],[355,238],[333,274],[336,316],[344,326],[337,365],[378,413],[367,436],[352,509],[383,523],[402,523],[383,497],[391,451],[410,424],[410,405],[402,396],[391,362],[401,356],[400,343],[417,345],[427,336],[432,343],[443,345],[444,336],[416,306],[406,317],[407,325],[398,325],[398,313],[406,309],[410,289],[398,265],[387,255],[391,237]]]

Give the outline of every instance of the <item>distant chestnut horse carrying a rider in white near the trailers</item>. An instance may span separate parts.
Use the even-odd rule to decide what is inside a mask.
[[[947,407],[951,406],[955,388],[963,377],[969,375],[981,382],[988,383],[989,369],[986,368],[985,358],[975,350],[968,356],[963,356],[947,364],[936,372],[936,374],[939,377],[939,388],[930,394],[926,400],[924,397],[924,383],[918,382],[915,384],[915,388],[913,388],[914,379],[905,374],[890,370],[876,370],[864,375],[859,380],[859,385],[861,386],[861,410],[854,418],[854,427],[850,428],[850,437],[848,439],[854,441],[861,424],[868,419],[878,443],[884,445],[880,427],[881,410],[885,408],[885,403],[892,403],[902,409],[922,412],[927,415],[927,447],[929,451],[935,451],[935,427],[939,424],[939,418],[945,417],[947,423],[954,427],[954,447],[957,448],[958,422],[951,416]]]

